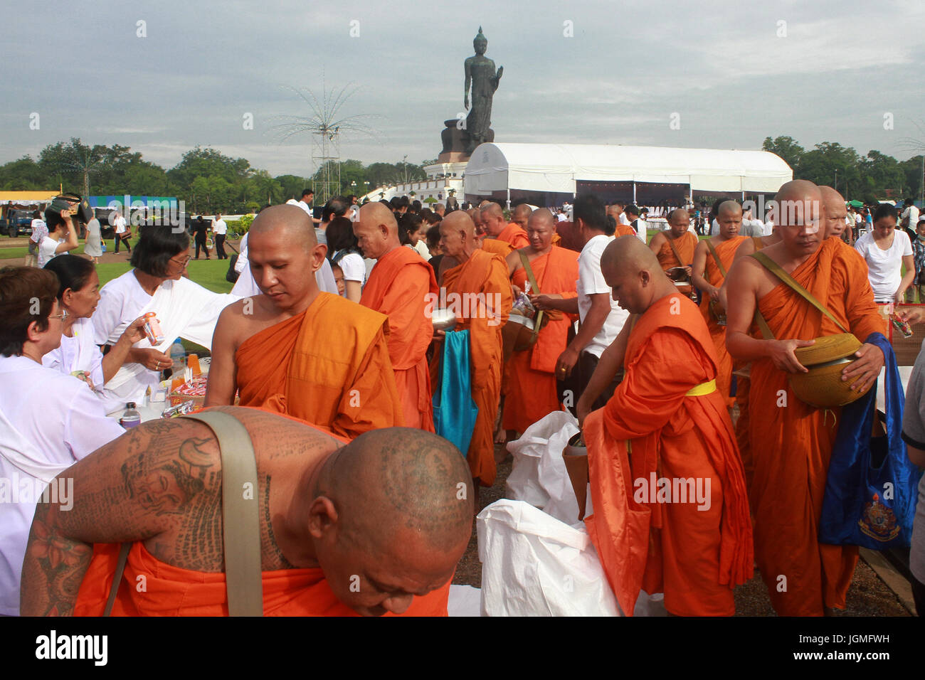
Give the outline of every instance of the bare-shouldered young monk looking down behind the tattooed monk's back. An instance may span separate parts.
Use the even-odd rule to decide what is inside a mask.
[[[403,425],[388,317],[318,290],[327,247],[308,216],[274,205],[253,220],[248,260],[263,292],[218,317],[206,406],[260,406],[356,437]]]

